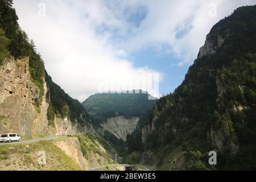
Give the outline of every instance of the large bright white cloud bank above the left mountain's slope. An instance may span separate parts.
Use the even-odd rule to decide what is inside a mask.
[[[46,3],[43,18],[37,14],[39,1],[14,1],[14,6],[20,26],[34,40],[47,72],[73,98],[85,100],[98,92],[102,81],[125,89],[124,83],[130,86],[142,75],[159,73],[148,67],[134,67],[123,59],[125,50],[114,49],[106,35],[96,34],[95,28],[102,23],[119,26],[102,2],[43,2]],[[134,85],[129,89],[139,87]]]

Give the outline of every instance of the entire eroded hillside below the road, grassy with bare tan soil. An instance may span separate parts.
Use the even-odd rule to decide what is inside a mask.
[[[0,145],[0,170],[90,170],[113,164],[104,147],[90,138],[77,135],[29,144]],[[115,167],[108,169],[117,170]]]

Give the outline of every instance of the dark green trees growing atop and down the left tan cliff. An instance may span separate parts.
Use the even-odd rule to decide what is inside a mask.
[[[35,108],[40,112],[39,105],[44,94],[44,63],[36,52],[34,42],[28,40],[27,34],[20,29],[18,16],[12,6],[12,0],[0,1],[0,65],[5,57],[30,58],[31,81],[40,89],[39,98],[35,101]]]

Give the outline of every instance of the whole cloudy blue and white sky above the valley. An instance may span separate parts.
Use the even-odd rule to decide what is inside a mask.
[[[20,27],[53,81],[84,101],[97,92],[171,93],[205,36],[256,0],[14,0]]]

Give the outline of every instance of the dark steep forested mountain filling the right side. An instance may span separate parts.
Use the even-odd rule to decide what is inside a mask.
[[[182,84],[127,136],[127,158],[167,170],[256,169],[255,32],[256,6],[215,24]]]

